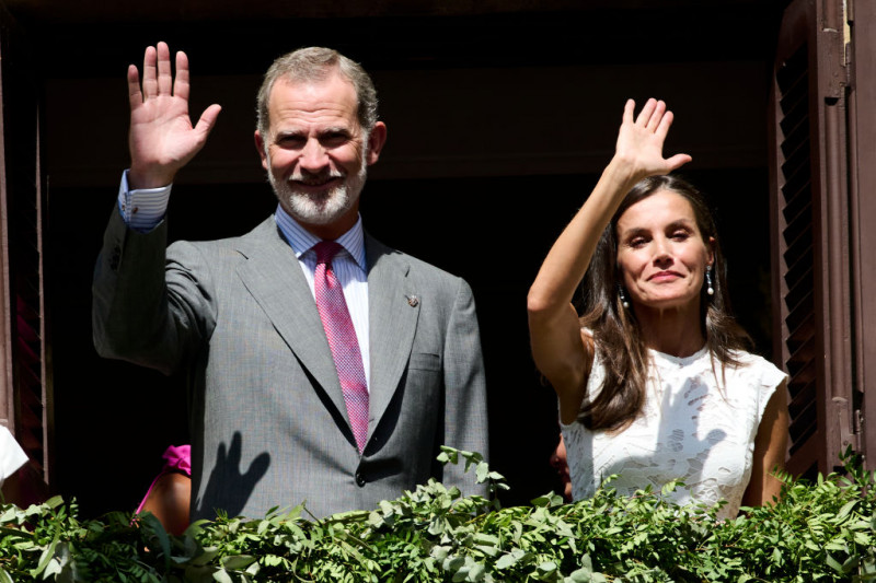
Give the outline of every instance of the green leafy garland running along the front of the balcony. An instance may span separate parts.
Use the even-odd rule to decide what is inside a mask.
[[[462,457],[492,492],[507,488],[475,453]],[[549,494],[499,508],[430,480],[373,511],[307,520],[303,506],[262,520],[220,515],[168,535],[151,514],[79,521],[54,498],[0,511],[0,583],[58,582],[809,582],[876,581],[876,473],[846,452],[846,475],[785,481],[773,506],[680,508],[649,490],[590,500]],[[670,483],[664,493],[680,483]]]

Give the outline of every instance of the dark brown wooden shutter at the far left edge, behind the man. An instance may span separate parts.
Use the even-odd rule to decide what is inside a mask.
[[[39,92],[21,30],[0,4],[0,421],[48,483],[51,390],[43,285]]]

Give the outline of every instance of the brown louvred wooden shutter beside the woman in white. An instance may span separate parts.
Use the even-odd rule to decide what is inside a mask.
[[[829,471],[856,445],[842,0],[786,9],[773,74],[775,360],[788,383],[788,469]]]

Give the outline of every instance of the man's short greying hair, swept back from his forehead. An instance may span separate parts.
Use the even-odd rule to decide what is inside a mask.
[[[265,73],[265,80],[258,90],[256,112],[258,114],[258,132],[267,137],[270,127],[270,115],[268,113],[268,100],[270,90],[278,79],[291,82],[314,82],[324,81],[335,71],[344,75],[356,91],[358,103],[357,116],[359,126],[367,136],[377,124],[377,91],[374,83],[361,65],[348,59],[341,53],[331,48],[308,47],[293,50],[274,61]]]

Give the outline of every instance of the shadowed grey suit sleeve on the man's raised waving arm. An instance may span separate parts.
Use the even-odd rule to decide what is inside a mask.
[[[102,357],[171,374],[209,336],[216,311],[206,261],[191,244],[165,253],[166,238],[165,222],[138,233],[114,209],[94,268],[92,326]]]

